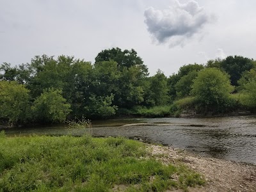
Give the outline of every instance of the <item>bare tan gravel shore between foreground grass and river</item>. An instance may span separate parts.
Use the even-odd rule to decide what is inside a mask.
[[[256,165],[235,163],[196,154],[172,147],[148,145],[148,149],[163,163],[184,163],[204,175],[204,187],[189,191],[256,191]],[[180,191],[180,190],[176,190]]]

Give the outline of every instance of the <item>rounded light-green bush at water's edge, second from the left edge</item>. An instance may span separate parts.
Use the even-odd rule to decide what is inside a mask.
[[[33,102],[32,111],[40,122],[64,122],[70,113],[70,104],[61,95],[61,90],[49,88]]]

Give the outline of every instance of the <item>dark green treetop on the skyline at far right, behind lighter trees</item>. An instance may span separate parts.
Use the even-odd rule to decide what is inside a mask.
[[[231,84],[237,86],[243,72],[253,68],[253,60],[243,56],[228,56],[221,61],[221,68],[230,75]]]

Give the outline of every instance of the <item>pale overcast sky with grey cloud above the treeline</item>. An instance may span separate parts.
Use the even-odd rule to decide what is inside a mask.
[[[34,56],[94,63],[104,49],[134,49],[150,76],[189,63],[256,59],[255,0],[1,0],[0,64]]]

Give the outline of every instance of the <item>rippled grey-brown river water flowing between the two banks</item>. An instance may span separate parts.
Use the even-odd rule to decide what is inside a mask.
[[[68,125],[4,129],[8,136],[61,135]],[[256,116],[138,118],[92,121],[93,136],[125,136],[184,148],[202,156],[256,164]],[[73,130],[72,134],[83,134]]]

